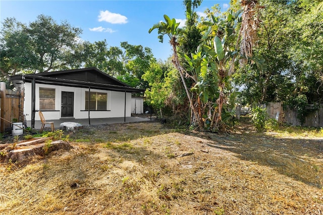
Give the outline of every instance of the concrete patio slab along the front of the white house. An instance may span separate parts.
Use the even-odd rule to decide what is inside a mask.
[[[152,120],[154,120],[152,118]],[[80,123],[82,125],[89,125],[89,119],[74,119],[74,120],[46,120],[47,122],[54,122],[55,129],[59,129],[61,123],[64,122],[75,122]],[[124,117],[117,118],[98,118],[98,119],[90,119],[91,125],[104,125],[104,124],[116,124],[116,123],[130,123],[130,122],[145,122],[150,121],[150,118],[141,118],[141,117],[126,117],[126,121]],[[27,121],[27,127],[31,127],[31,121]],[[35,129],[40,129],[41,121],[35,121]],[[47,128],[49,127],[49,128]],[[45,130],[50,130],[50,124],[47,124]]]

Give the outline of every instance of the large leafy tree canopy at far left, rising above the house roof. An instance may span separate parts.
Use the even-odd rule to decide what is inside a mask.
[[[2,74],[48,72],[72,64],[81,32],[67,21],[57,24],[44,15],[28,25],[6,19],[1,32]]]

